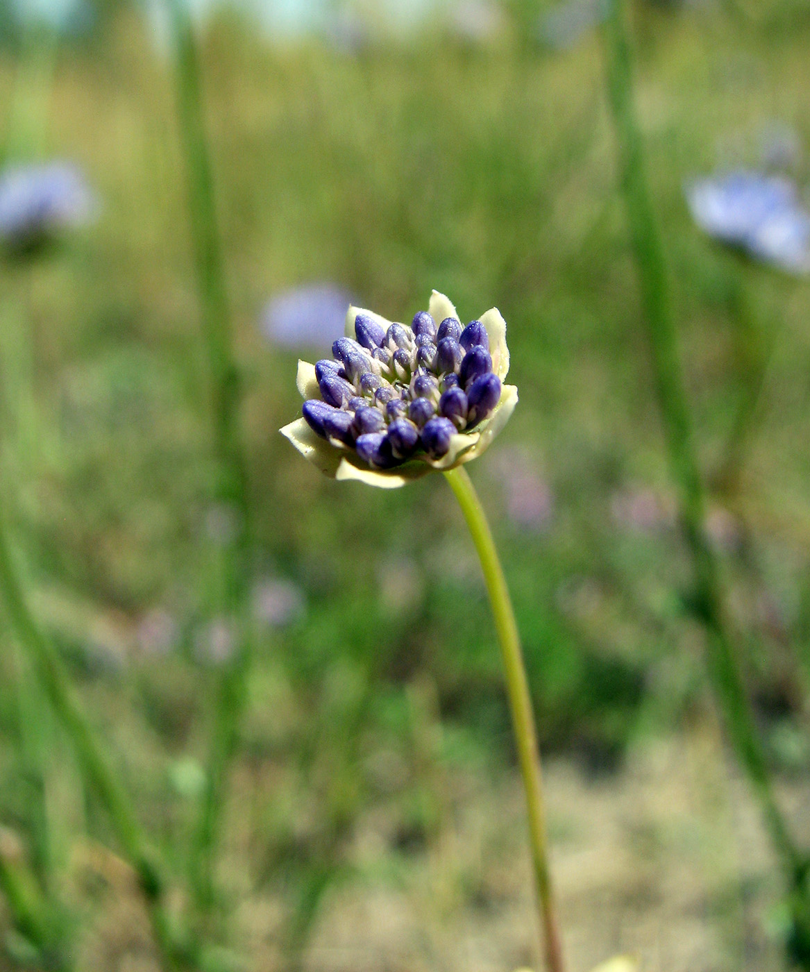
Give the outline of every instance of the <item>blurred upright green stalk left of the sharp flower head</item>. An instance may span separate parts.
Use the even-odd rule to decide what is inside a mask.
[[[216,494],[225,515],[233,518],[232,536],[226,538],[222,557],[218,585],[221,592],[219,609],[230,622],[238,624],[246,600],[250,518],[239,425],[239,372],[233,353],[194,27],[185,0],[168,2],[197,289],[213,398],[214,444],[218,463]],[[214,901],[213,869],[219,819],[244,710],[250,655],[250,634],[243,623],[239,625],[235,656],[223,672],[219,685],[206,789],[192,850],[192,885],[197,905],[203,913],[210,909]]]

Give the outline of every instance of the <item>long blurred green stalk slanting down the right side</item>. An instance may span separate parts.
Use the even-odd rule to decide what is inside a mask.
[[[734,656],[723,607],[719,564],[703,530],[705,500],[692,432],[678,336],[658,224],[633,105],[632,60],[623,0],[612,0],[604,27],[607,89],[619,152],[619,177],[632,249],[638,267],[653,352],[658,400],[680,518],[692,554],[692,612],[705,627],[711,684],[726,718],[726,731],[758,799],[779,855],[793,905],[793,954],[810,968],[810,901],[806,855],[799,850],[779,808],[754,716]]]

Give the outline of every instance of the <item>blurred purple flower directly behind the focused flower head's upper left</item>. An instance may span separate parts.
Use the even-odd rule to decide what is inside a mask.
[[[352,295],[334,284],[298,287],[269,301],[261,315],[261,330],[284,348],[321,348],[343,335],[352,302]]]

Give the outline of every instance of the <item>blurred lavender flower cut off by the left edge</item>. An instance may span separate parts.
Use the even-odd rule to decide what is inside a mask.
[[[0,237],[21,246],[89,223],[97,200],[69,162],[10,165],[0,173]]]

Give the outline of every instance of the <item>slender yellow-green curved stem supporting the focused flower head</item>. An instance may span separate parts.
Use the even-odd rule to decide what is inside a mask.
[[[467,521],[476,551],[478,552],[484,580],[487,584],[489,604],[495,622],[501,658],[506,675],[509,708],[518,761],[521,766],[523,788],[528,810],[528,830],[531,842],[534,880],[540,905],[540,922],[543,928],[546,966],[549,972],[563,972],[562,945],[557,924],[557,909],[549,870],[549,849],[546,837],[546,811],[543,801],[543,785],[540,771],[540,751],[537,731],[528,690],[521,639],[515,622],[515,612],[506,586],[506,579],[498,560],[497,550],[489,530],[487,515],[475,492],[466,469],[458,467],[445,472],[445,478],[456,494],[456,500]]]

